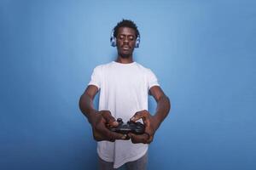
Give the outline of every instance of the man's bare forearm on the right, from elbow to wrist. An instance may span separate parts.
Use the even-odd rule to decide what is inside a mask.
[[[154,114],[155,121],[157,122],[157,128],[160,127],[161,122],[164,121],[171,109],[170,99],[163,95],[157,101],[156,112]]]

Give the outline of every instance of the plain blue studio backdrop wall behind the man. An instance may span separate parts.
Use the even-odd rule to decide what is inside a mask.
[[[148,169],[256,169],[255,1],[1,0],[0,169],[96,169],[79,97],[116,57],[119,20],[141,32],[172,111]],[[154,112],[154,99],[149,98]]]

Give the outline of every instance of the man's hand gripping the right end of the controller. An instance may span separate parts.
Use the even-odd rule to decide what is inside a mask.
[[[131,138],[131,142],[134,144],[143,143],[150,144],[154,139],[154,133],[159,127],[158,122],[154,116],[151,116],[150,113],[146,110],[138,111],[134,116],[131,117],[132,122],[136,122],[139,119],[143,119],[145,125],[145,133],[137,135],[134,133],[128,133],[128,136]]]

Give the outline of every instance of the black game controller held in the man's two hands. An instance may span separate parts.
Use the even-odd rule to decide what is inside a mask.
[[[122,133],[122,134],[128,134],[128,133],[143,134],[145,132],[145,126],[141,122],[128,121],[127,123],[124,124],[121,118],[118,118],[117,122],[119,122],[119,125],[117,127],[109,127],[110,131],[115,133]]]

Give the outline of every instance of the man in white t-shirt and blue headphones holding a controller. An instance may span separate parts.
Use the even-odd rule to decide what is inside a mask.
[[[139,38],[137,26],[131,20],[122,20],[114,27],[111,42],[117,47],[117,59],[96,66],[79,101],[80,110],[88,118],[93,137],[98,141],[100,169],[124,164],[128,169],[146,169],[148,144],[170,110],[170,101],[154,73],[133,61],[132,53],[139,45]],[[93,99],[99,91],[99,111],[96,111]],[[148,94],[157,102],[154,116],[148,112]],[[145,133],[127,136],[111,132],[108,126],[116,127],[117,118],[124,122],[142,119]]]

